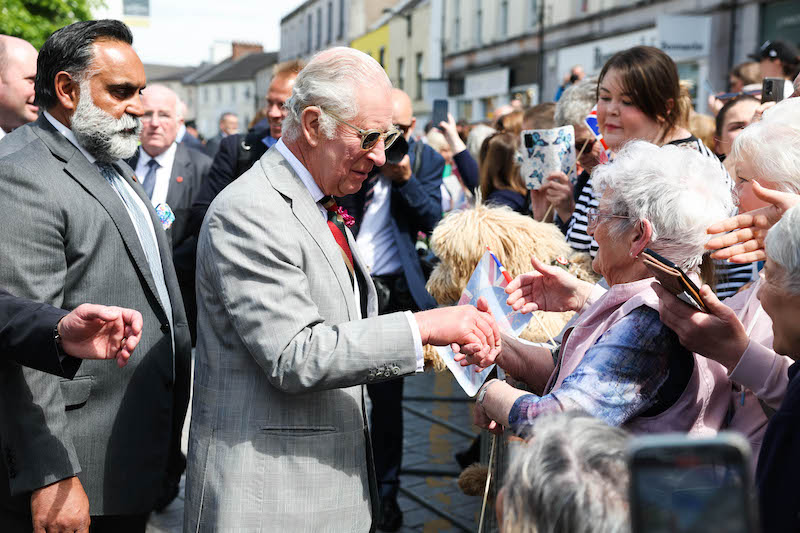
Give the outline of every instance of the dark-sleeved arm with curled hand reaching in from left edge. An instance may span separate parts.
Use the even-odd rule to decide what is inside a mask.
[[[139,311],[81,304],[67,312],[0,289],[0,362],[72,378],[81,359],[125,366],[141,338]]]

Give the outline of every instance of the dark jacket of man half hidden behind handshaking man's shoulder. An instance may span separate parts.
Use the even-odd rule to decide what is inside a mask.
[[[228,135],[219,145],[219,150],[214,156],[214,162],[208,170],[208,177],[203,182],[203,187],[200,194],[197,196],[192,207],[192,215],[190,217],[190,231],[194,235],[200,233],[200,225],[203,223],[203,218],[206,216],[208,206],[214,201],[214,198],[227,187],[233,180],[244,174],[253,163],[258,161],[262,155],[267,151],[267,145],[261,142],[261,139],[269,135],[269,128],[251,130],[246,136],[239,133]],[[245,140],[246,146],[249,147],[247,151],[249,157],[247,161],[242,161],[239,164],[239,152],[242,140]]]

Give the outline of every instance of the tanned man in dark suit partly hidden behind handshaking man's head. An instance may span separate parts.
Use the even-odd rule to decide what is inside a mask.
[[[300,60],[275,65],[266,95],[268,128],[259,128],[256,125],[246,135],[229,135],[220,143],[208,172],[208,179],[203,183],[192,209],[191,226],[195,234],[200,232],[200,224],[203,223],[208,206],[219,192],[250,170],[253,163],[261,159],[281,138],[283,119],[287,113],[283,104],[292,96],[294,80],[303,66],[304,63]]]

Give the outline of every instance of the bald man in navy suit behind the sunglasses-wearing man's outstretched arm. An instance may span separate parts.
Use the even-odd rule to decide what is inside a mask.
[[[436,307],[425,290],[415,245],[418,232],[430,233],[442,217],[444,159],[411,138],[416,118],[411,99],[400,89],[392,90],[392,122],[408,140],[408,155],[397,165],[387,163],[359,192],[339,201],[356,219],[353,234],[378,291],[380,314]],[[378,528],[396,531],[402,525],[397,490],[403,457],[403,379],[370,384],[367,391],[381,492]]]

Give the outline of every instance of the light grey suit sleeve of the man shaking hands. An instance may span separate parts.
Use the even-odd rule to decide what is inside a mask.
[[[326,256],[316,244],[309,248],[313,241],[298,234],[305,230],[291,212],[280,214],[284,201],[274,200],[251,199],[254,205],[243,207],[248,200],[241,196],[217,199],[201,231],[198,298],[211,291],[222,300],[231,334],[282,391],[349,387],[414,372],[412,332],[402,313],[325,322],[352,293],[345,296],[325,268]],[[311,262],[327,283],[309,280]]]

